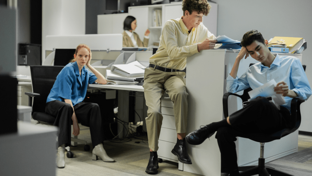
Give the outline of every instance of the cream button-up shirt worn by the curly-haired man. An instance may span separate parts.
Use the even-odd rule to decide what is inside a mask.
[[[149,58],[149,63],[183,70],[186,67],[186,58],[198,53],[197,44],[207,38],[216,37],[202,23],[188,33],[182,17],[168,20],[163,27],[158,50]],[[220,46],[216,44],[215,48]]]

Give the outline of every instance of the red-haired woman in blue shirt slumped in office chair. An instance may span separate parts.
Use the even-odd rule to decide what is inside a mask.
[[[57,75],[56,81],[46,100],[46,113],[56,117],[54,125],[58,126],[58,152],[56,166],[65,167],[65,147],[71,142],[71,123],[73,134],[78,136],[80,128],[78,122],[90,127],[92,146],[92,159],[100,157],[105,162],[115,160],[107,156],[104,148],[104,129],[99,105],[82,102],[85,99],[88,84],[97,82],[106,84],[105,77],[95,70],[90,61],[92,53],[85,44],[79,44],[74,59],[67,64]],[[85,68],[89,67],[91,71]]]

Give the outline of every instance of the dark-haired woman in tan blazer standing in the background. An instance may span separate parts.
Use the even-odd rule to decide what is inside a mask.
[[[127,16],[124,19],[124,32],[122,33],[122,47],[147,47],[149,43],[149,29],[145,31],[143,42],[135,32],[136,19],[133,16]]]

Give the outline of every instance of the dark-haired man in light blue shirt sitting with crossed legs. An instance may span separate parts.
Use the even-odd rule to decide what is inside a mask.
[[[188,143],[201,144],[215,132],[221,152],[221,172],[230,176],[239,175],[234,140],[239,134],[272,133],[290,127],[290,102],[294,97],[307,100],[312,94],[300,60],[293,56],[279,56],[268,49],[268,41],[257,30],[248,31],[241,40],[242,49],[236,57],[231,73],[227,77],[227,91],[238,92],[251,87],[253,90],[275,80],[272,92],[285,97],[280,110],[265,97],[257,97],[243,109],[220,122],[203,126],[186,136]],[[237,71],[240,61],[248,55],[259,61],[249,67],[240,78]]]

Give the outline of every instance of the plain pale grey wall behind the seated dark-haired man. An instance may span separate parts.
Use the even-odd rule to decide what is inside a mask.
[[[307,65],[306,75],[312,84],[311,0],[213,1],[219,6],[217,35],[241,40],[247,31],[257,29],[265,39],[275,36],[304,38],[308,47],[302,52],[302,64]],[[301,131],[312,132],[311,107],[312,97],[301,105]]]

